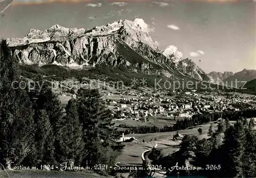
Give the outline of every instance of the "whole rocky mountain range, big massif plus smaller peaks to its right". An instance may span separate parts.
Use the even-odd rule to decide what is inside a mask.
[[[137,18],[93,29],[55,25],[44,31],[31,29],[24,38],[7,38],[6,41],[12,57],[23,64],[55,64],[78,69],[109,66],[211,83],[231,77],[231,72],[205,73],[191,59],[182,59],[182,53],[175,46],[159,50],[141,23],[143,19]]]

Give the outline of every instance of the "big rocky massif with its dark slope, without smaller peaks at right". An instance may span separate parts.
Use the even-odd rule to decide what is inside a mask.
[[[118,20],[92,29],[54,25],[43,31],[31,29],[24,38],[6,41],[13,58],[26,64],[82,67],[126,66],[128,63],[132,70],[142,72],[154,71],[156,66],[157,70],[163,70],[163,64],[172,66],[172,62],[159,52],[148,29],[144,20],[138,18]]]

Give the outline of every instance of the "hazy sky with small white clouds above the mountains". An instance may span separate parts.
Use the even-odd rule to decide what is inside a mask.
[[[0,10],[10,2],[2,2]],[[191,58],[207,73],[256,69],[253,0],[14,0],[1,17],[4,38],[24,37],[32,28],[45,30],[56,24],[88,29],[142,18],[160,49],[178,47],[183,58]]]

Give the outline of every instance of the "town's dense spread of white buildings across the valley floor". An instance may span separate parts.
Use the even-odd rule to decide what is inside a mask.
[[[113,94],[108,93],[108,95]],[[190,118],[194,114],[207,111],[214,113],[226,109],[239,110],[233,108],[231,104],[251,100],[251,98],[237,98],[232,95],[226,98],[214,95],[205,97],[202,94],[197,94],[196,91],[185,92],[181,94],[181,98],[165,97],[166,95],[160,97],[157,94],[143,92],[123,92],[114,95],[121,96],[119,100],[111,100],[114,105],[112,115],[116,120],[145,120],[148,116]]]

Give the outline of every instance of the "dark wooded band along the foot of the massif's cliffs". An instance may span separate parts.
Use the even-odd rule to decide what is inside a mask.
[[[148,75],[148,74],[140,74],[131,71],[127,71],[127,69],[123,68],[109,68],[109,67],[97,67],[89,70],[75,70],[68,69],[62,66],[57,65],[45,65],[40,68],[35,65],[20,65],[22,69],[22,75],[27,78],[34,78],[39,75],[47,76],[52,80],[65,80],[67,78],[81,78],[88,77],[90,79],[96,80],[105,80],[105,81],[114,81],[119,82],[122,81],[125,86],[130,86],[134,78],[138,79],[146,79],[148,86],[155,86],[155,79],[159,81],[162,79],[162,84],[167,78],[163,75]]]

